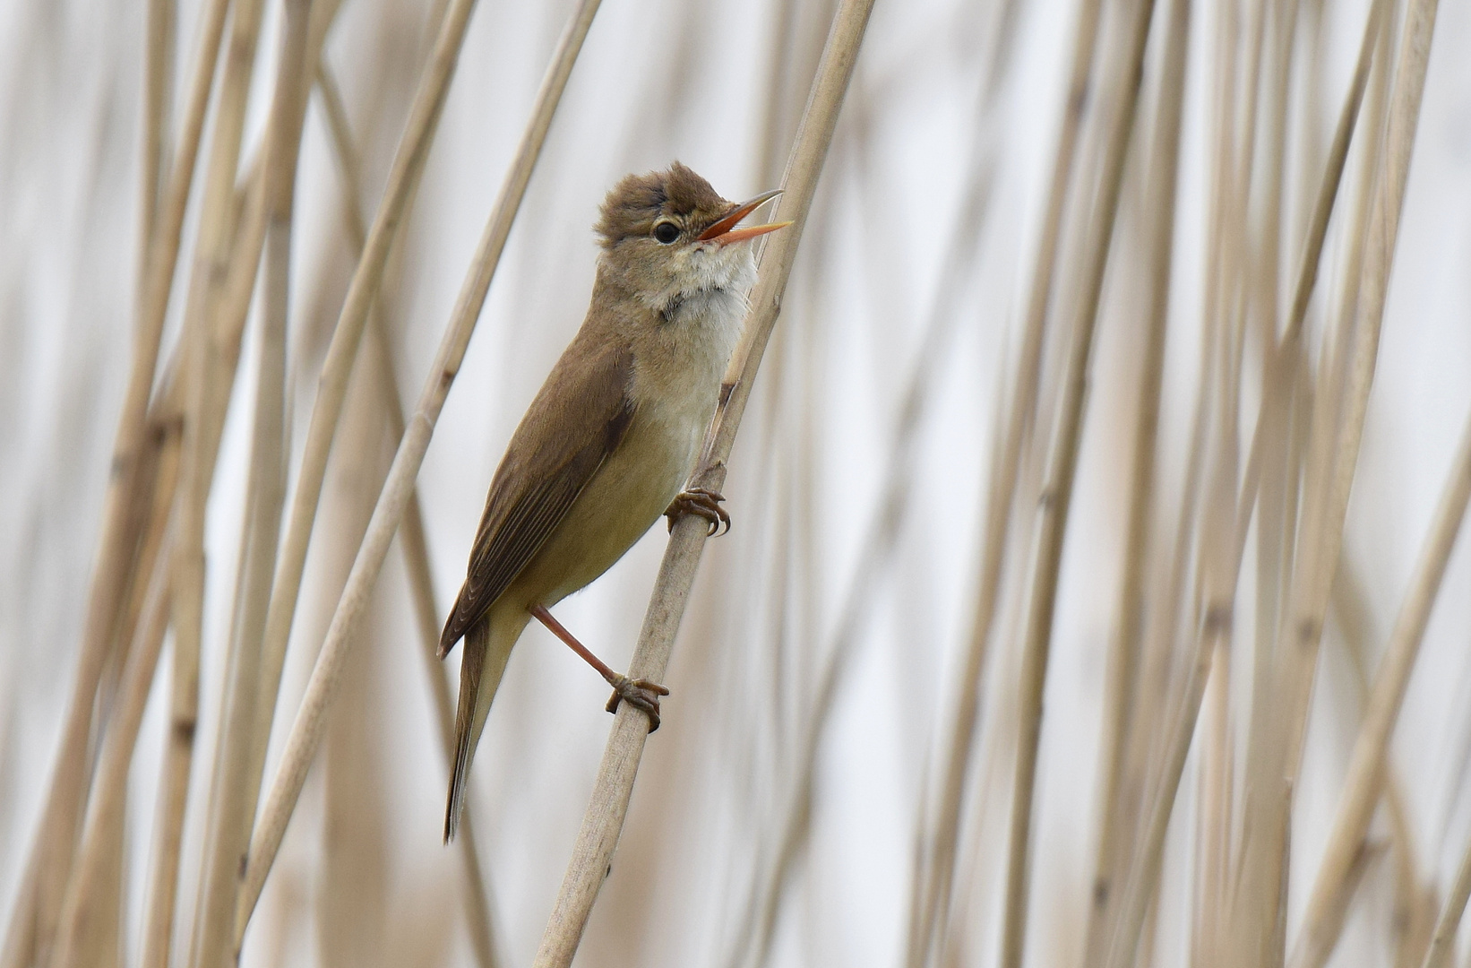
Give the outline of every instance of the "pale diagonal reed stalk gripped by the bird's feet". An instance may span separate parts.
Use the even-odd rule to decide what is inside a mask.
[[[744,415],[762,353],[781,312],[781,299],[797,256],[797,244],[816,194],[818,178],[833,143],[838,110],[853,76],[872,6],[872,0],[844,0],[834,13],[818,74],[812,81],[812,93],[787,162],[787,174],[783,178],[784,194],[780,210],[793,221],[793,225],[775,235],[765,250],[741,341],[725,371],[722,399],[710,425],[706,450],[691,477],[699,487],[718,491],[725,483],[725,462],[736,443],[736,431]],[[628,675],[653,681],[663,677],[690,587],[694,584],[705,538],[705,528],[693,518],[687,516],[675,524]],[[572,849],[572,859],[533,961],[535,968],[566,968],[572,964],[597,890],[612,864],[618,836],[622,833],[647,736],[646,716],[628,703],[619,706]]]

